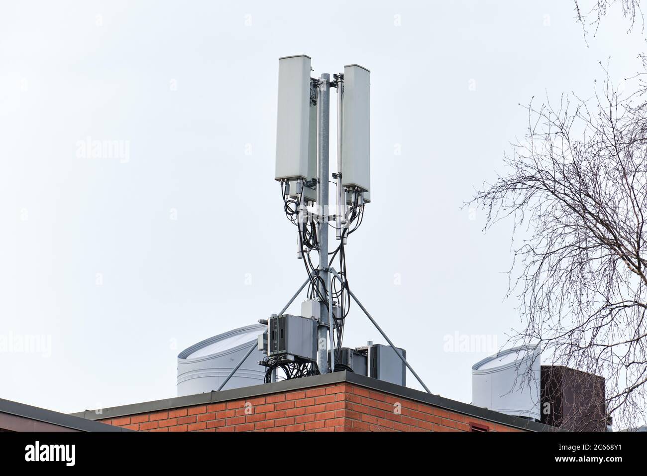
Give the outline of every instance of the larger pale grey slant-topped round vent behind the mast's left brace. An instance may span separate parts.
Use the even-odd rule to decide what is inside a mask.
[[[266,328],[263,324],[241,327],[182,350],[177,356],[177,396],[217,390]],[[263,383],[265,368],[258,364],[262,358],[260,351],[250,354],[223,389]]]

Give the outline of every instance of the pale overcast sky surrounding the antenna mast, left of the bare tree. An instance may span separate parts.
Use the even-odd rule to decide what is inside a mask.
[[[305,271],[273,180],[278,58],[308,54],[316,76],[371,70],[351,288],[432,392],[471,401],[471,365],[519,317],[511,223],[483,234],[461,204],[523,135],[519,103],[591,96],[609,55],[614,78],[635,73],[641,29],[611,16],[587,46],[566,0],[281,5],[3,2],[0,337],[41,347],[0,348],[1,398],[175,396],[182,349],[281,309]],[[120,150],[93,157],[87,138]],[[368,340],[353,306],[345,345]]]

